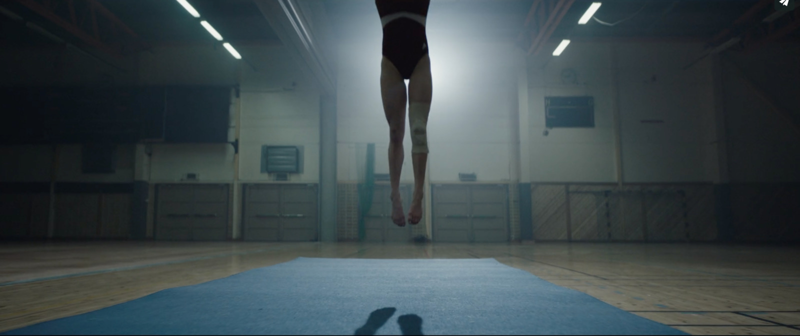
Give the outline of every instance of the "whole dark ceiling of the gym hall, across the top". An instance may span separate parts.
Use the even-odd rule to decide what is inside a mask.
[[[46,0],[29,0],[44,3]],[[214,43],[215,40],[174,0],[74,0],[79,26],[92,31],[89,11],[77,4],[97,1],[133,30],[138,38],[114,31],[112,26],[99,26],[96,36],[104,42],[127,45],[128,53],[142,50],[145,46],[181,45],[186,43]],[[306,1],[306,0],[297,0]],[[555,3],[558,0],[546,0]],[[595,0],[597,1],[597,0]],[[606,26],[591,20],[578,25],[578,18],[586,11],[592,0],[575,0],[564,17],[558,22],[550,41],[561,38],[693,38],[708,41],[720,31],[730,28],[733,22],[746,13],[757,0],[601,0],[602,7],[595,14],[603,22],[619,22]],[[280,44],[264,15],[252,0],[189,0],[189,2],[222,34],[227,41],[237,43]],[[51,0],[54,13],[69,17],[66,0]],[[523,22],[534,0],[433,0],[431,10],[446,13],[455,18],[464,18],[475,30],[493,30],[494,37],[517,38],[523,31]],[[326,9],[332,17],[346,18],[348,14],[374,12],[372,0],[326,0]],[[34,22],[45,30],[75,45],[85,45],[72,32],[54,24],[34,10],[22,6],[18,0],[0,2],[0,11],[8,10]],[[762,9],[760,20],[770,12],[772,6]],[[84,13],[84,14],[82,14]],[[756,15],[756,17],[758,17]],[[795,14],[796,15],[796,14]],[[789,15],[786,15],[788,17]],[[482,18],[502,18],[494,21]],[[431,17],[429,20],[435,20]],[[534,22],[537,18],[534,18]],[[795,20],[800,20],[796,18]],[[620,22],[622,21],[622,22]],[[336,20],[332,20],[336,22]],[[484,23],[481,26],[481,22]],[[536,23],[532,23],[534,25]],[[24,26],[24,21],[0,15],[0,46],[38,46],[53,44],[51,38],[43,37]],[[335,29],[335,27],[334,27]],[[786,38],[800,37],[794,30]]]

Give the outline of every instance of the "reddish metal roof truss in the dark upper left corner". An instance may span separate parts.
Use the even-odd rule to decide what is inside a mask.
[[[97,0],[15,0],[55,25],[116,58],[149,49],[145,42]],[[130,43],[138,50],[126,50]]]

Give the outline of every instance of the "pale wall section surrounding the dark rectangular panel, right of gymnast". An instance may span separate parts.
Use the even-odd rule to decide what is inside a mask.
[[[578,74],[577,85],[562,81],[565,69]],[[528,74],[531,181],[614,182],[609,46],[570,44],[543,68],[531,66]],[[554,129],[545,136],[545,97],[570,95],[594,96],[594,128]]]

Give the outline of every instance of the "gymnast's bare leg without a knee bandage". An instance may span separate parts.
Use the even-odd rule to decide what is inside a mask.
[[[406,82],[392,62],[381,61],[381,98],[389,122],[389,180],[392,187],[392,222],[406,225],[400,198],[400,172],[403,162],[402,139],[406,134]]]

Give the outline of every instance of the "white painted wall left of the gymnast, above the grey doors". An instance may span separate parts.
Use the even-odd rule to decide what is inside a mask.
[[[24,50],[23,50],[24,51]],[[221,46],[174,46],[142,53],[132,62],[130,84],[138,85],[241,85],[241,155],[240,178],[243,182],[266,181],[260,173],[262,145],[298,145],[304,147],[304,173],[292,181],[318,181],[319,94],[313,82],[300,70],[282,46],[240,46],[238,51],[248,62],[237,61]],[[22,55],[22,56],[18,56]],[[112,72],[102,63],[74,51],[52,48],[27,50],[27,54],[0,52],[0,59],[19,58],[18,67],[4,66],[16,82],[6,85],[80,85],[105,78]],[[54,69],[50,62],[63,65]],[[12,62],[6,63],[11,64]],[[62,73],[54,73],[59,70]],[[14,72],[16,71],[16,72]],[[82,75],[78,75],[82,74]],[[107,76],[106,76],[107,77]],[[3,77],[11,80],[8,77]],[[22,79],[20,79],[22,78]],[[99,79],[98,79],[99,78]],[[290,90],[283,90],[287,88]],[[235,99],[235,98],[233,98]],[[235,103],[230,109],[229,140],[236,125]],[[159,144],[150,147],[150,158],[140,167],[140,177],[150,182],[180,182],[186,173],[199,174],[200,182],[232,182],[234,148],[227,144]],[[134,146],[118,148],[115,174],[81,174],[78,145],[59,146],[58,181],[62,182],[131,182],[134,178]],[[0,165],[3,181],[50,181],[53,158],[50,146],[2,146],[4,162]],[[140,155],[142,157],[142,155]],[[143,160],[143,158],[141,158]]]

